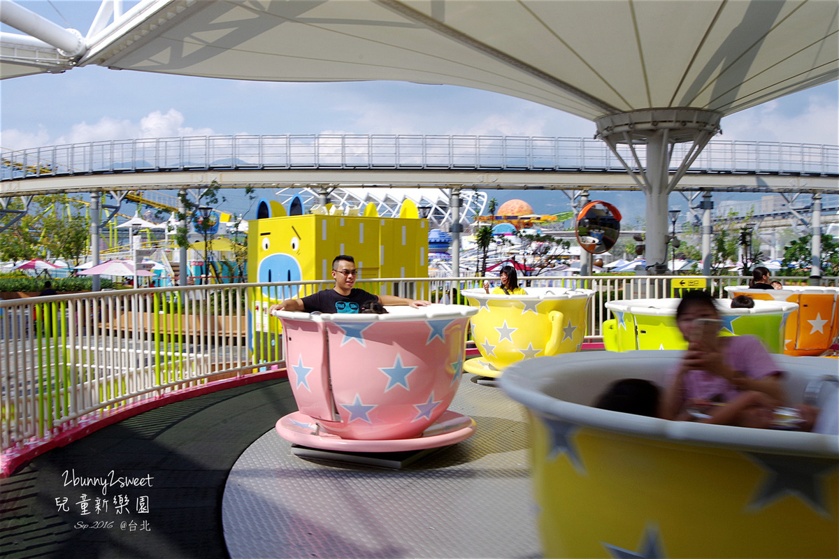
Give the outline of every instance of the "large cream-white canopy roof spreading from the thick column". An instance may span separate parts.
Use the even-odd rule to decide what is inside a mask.
[[[79,65],[465,85],[591,120],[726,115],[835,80],[837,12],[826,0],[144,0],[93,34]]]

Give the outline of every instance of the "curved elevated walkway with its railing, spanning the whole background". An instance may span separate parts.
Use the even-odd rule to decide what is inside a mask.
[[[685,156],[676,144],[675,158]],[[624,158],[630,158],[624,153]],[[675,168],[671,169],[675,171]],[[839,146],[709,142],[676,190],[833,192]],[[140,138],[0,152],[0,197],[294,184],[636,190],[594,138],[276,135]]]

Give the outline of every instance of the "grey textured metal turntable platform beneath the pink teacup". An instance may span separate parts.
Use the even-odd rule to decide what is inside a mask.
[[[449,409],[477,432],[398,470],[299,458],[266,432],[227,478],[232,558],[539,556],[524,409],[476,380]]]

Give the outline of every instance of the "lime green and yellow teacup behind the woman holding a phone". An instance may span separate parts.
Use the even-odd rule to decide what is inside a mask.
[[[687,349],[676,327],[680,299],[609,301],[615,318],[603,322],[603,345],[608,351],[632,349]],[[717,299],[721,336],[751,334],[763,340],[770,353],[784,350],[784,323],[798,310],[796,303],[755,301],[754,308],[731,308],[731,299]]]

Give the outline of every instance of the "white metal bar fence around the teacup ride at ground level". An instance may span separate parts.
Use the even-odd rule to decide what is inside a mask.
[[[684,277],[684,276],[682,276]],[[374,293],[466,303],[484,277],[359,280]],[[523,277],[525,287],[591,288],[586,339],[602,338],[605,303],[670,297],[672,277]],[[739,277],[714,277],[717,297]],[[785,284],[806,278],[783,278]],[[837,278],[826,278],[826,285]],[[37,448],[114,411],[216,380],[284,368],[272,300],[331,282],[217,284],[110,290],[0,302],[4,457]]]

